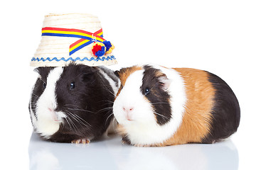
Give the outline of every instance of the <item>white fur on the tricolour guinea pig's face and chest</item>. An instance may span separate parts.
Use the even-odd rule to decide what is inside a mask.
[[[166,74],[170,82],[167,91],[171,96],[171,120],[164,125],[156,123],[151,103],[140,91],[144,70],[134,72],[127,78],[113,106],[115,118],[117,118],[118,123],[124,126],[133,145],[151,145],[164,142],[174,135],[182,122],[186,103],[183,79],[174,69],[154,67],[161,69],[161,72]],[[125,118],[123,107],[134,108],[131,115],[132,121]]]

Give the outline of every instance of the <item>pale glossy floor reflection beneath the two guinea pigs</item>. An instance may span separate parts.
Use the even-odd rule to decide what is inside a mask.
[[[122,145],[114,136],[88,145],[46,142],[35,133],[28,148],[30,169],[238,169],[231,140],[171,147]]]

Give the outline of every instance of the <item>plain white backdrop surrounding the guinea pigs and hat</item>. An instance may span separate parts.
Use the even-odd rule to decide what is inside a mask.
[[[240,101],[241,121],[231,137],[239,169],[255,168],[255,1],[1,1],[0,169],[28,169],[32,126],[28,113],[35,82],[29,66],[48,13],[99,16],[115,45],[117,69],[141,63],[193,67],[224,79]]]

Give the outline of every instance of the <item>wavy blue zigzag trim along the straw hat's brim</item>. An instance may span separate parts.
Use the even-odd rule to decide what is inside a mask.
[[[112,56],[107,56],[107,58],[106,57],[102,57],[102,58],[100,58],[100,57],[97,57],[96,59],[94,58],[94,57],[91,57],[90,59],[88,59],[87,57],[84,57],[84,58],[80,58],[80,57],[76,57],[75,59],[73,59],[72,57],[69,57],[68,59],[65,59],[64,57],[62,57],[61,59],[58,59],[58,58],[56,58],[56,57],[54,57],[53,59],[50,59],[49,57],[47,57],[46,59],[44,59],[43,57],[41,57],[41,59],[39,59],[38,57],[33,57],[32,59],[31,59],[31,61],[32,62],[40,62],[40,61],[43,61],[43,62],[46,62],[46,61],[49,61],[49,62],[51,62],[51,61],[53,61],[53,60],[55,60],[55,61],[57,61],[57,62],[60,62],[60,61],[64,61],[64,62],[68,62],[68,61],[72,61],[72,62],[75,62],[75,61],[80,61],[80,62],[83,62],[83,61],[88,61],[88,62],[91,62],[91,61],[95,61],[95,62],[97,62],[97,61],[105,61],[105,60],[116,60],[115,59],[115,57],[114,57],[114,55],[112,55]]]

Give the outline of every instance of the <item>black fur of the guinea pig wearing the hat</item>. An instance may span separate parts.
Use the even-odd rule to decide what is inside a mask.
[[[48,140],[53,142],[71,142],[82,138],[96,140],[107,130],[113,118],[111,114],[114,91],[109,81],[100,74],[99,67],[70,64],[63,68],[63,74],[56,82],[55,95],[58,107],[55,111],[62,111],[68,115],[75,125],[64,119],[58,132]],[[42,79],[46,81],[49,68],[42,67],[38,70]],[[37,101],[33,96],[41,96],[43,93],[43,80],[36,81],[31,98],[33,108],[36,107]],[[75,88],[70,88],[71,83],[75,84]]]

